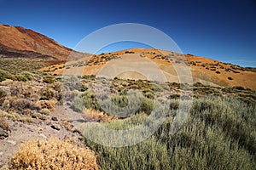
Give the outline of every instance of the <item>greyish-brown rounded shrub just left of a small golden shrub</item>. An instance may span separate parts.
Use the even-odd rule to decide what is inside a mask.
[[[19,111],[20,113],[23,113],[23,111],[27,110],[37,110],[39,111],[40,105],[37,105],[33,103],[29,99],[16,99],[11,103],[11,107],[15,109],[15,111]]]

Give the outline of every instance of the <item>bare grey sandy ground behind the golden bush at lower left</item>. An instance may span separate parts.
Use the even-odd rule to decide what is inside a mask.
[[[56,117],[57,121],[51,120]],[[57,105],[55,111],[51,112],[49,120],[38,120],[36,123],[13,122],[9,120],[11,126],[9,138],[0,140],[0,169],[6,166],[15,152],[18,151],[20,144],[28,139],[49,139],[56,137],[58,139],[73,139],[80,142],[81,135],[77,132],[71,132],[64,126],[64,122],[70,121],[70,126],[75,127],[83,122],[84,119],[77,112],[70,108]],[[60,127],[56,130],[51,126]]]

